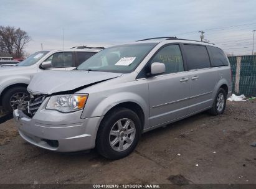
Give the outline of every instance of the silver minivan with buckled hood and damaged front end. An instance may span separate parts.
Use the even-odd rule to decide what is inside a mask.
[[[224,113],[229,60],[215,45],[175,37],[106,48],[77,70],[35,75],[19,134],[44,149],[97,148],[108,159],[130,154],[141,133],[209,110]]]

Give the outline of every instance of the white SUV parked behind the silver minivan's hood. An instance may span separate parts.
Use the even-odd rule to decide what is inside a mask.
[[[0,67],[0,106],[3,112],[25,107],[30,95],[27,86],[31,76],[45,70],[72,70],[92,57],[103,47],[70,48],[69,50],[40,51],[17,65]]]

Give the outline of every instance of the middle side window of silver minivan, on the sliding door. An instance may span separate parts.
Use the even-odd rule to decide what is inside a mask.
[[[211,67],[209,55],[205,46],[184,45],[187,55],[187,69],[202,69]]]

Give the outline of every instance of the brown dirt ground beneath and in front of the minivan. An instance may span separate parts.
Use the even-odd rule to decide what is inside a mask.
[[[256,101],[227,103],[225,114],[197,114],[143,134],[129,157],[60,154],[0,124],[0,183],[256,183]],[[198,164],[198,166],[196,166]]]

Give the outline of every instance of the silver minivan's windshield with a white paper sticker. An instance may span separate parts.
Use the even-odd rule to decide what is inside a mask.
[[[83,62],[77,67],[77,70],[130,73],[138,67],[154,46],[156,43],[128,44],[106,48]]]

